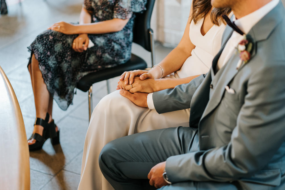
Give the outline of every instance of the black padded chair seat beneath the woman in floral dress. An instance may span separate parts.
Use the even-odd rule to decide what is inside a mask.
[[[136,56],[135,54],[132,54],[131,59],[124,64],[120,64],[118,66],[107,68],[94,73],[89,73],[86,76],[82,77],[82,79],[80,79],[80,81],[77,83],[77,88],[84,92],[87,92],[90,86],[96,82],[117,77],[125,71],[132,71],[137,69],[143,70],[146,67],[146,62],[142,58]]]

